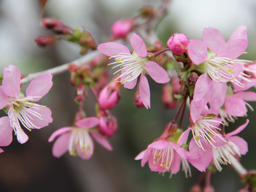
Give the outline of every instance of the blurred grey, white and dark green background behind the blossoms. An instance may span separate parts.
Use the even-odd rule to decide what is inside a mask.
[[[112,24],[123,17],[133,17],[142,5],[158,7],[161,1],[153,0],[49,0],[45,16],[52,16],[70,27],[84,26],[97,44],[110,35]],[[0,1],[0,71],[7,65],[19,67],[24,74],[46,70],[80,57],[79,47],[66,41],[39,48],[34,38],[50,34],[40,26],[40,4],[34,0]],[[158,26],[157,34],[163,44],[173,33],[184,33],[190,39],[201,38],[205,27],[219,29],[228,40],[239,26],[248,27],[248,54],[241,58],[256,60],[256,1],[254,0],[173,0],[166,17]],[[75,89],[70,85],[69,73],[53,77],[53,87],[40,100],[52,110],[53,122],[41,130],[26,132],[28,142],[13,142],[0,154],[0,191],[189,191],[199,172],[194,167],[192,177],[186,179],[182,171],[169,179],[151,172],[146,164],[134,158],[148,144],[159,137],[175,111],[161,105],[161,85],[148,78],[151,87],[151,109],[138,109],[133,104],[136,90],[121,90],[121,100],[112,110],[118,119],[118,131],[109,139],[113,152],[95,144],[93,157],[83,161],[67,153],[57,159],[52,156],[50,135],[63,126],[73,123],[78,106],[73,98]],[[25,89],[24,86],[23,89]],[[254,109],[256,104],[250,103]],[[87,115],[95,116],[91,93],[84,103]],[[187,110],[188,111],[188,110]],[[1,111],[1,116],[5,113]],[[185,116],[186,117],[186,116]],[[248,142],[249,152],[241,162],[247,169],[256,168],[255,113],[248,112],[250,123],[239,134]],[[239,118],[236,127],[246,118]],[[183,127],[188,125],[185,119]],[[232,124],[226,129],[232,131]],[[216,191],[238,191],[243,185],[238,174],[223,166],[221,173],[212,175]]]

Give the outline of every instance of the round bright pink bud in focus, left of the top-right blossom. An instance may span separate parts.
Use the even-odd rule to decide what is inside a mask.
[[[182,55],[187,50],[189,39],[182,33],[173,34],[167,41],[167,47],[175,55]]]

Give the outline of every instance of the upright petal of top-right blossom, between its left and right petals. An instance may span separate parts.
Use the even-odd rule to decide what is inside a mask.
[[[212,27],[204,28],[202,39],[206,42],[207,47],[215,53],[226,42],[221,32]]]

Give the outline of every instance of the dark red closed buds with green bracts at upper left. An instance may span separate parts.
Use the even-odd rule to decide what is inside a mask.
[[[49,46],[54,44],[56,40],[62,39],[79,45],[81,47],[80,54],[86,53],[88,49],[96,49],[96,44],[92,35],[84,29],[80,30],[78,27],[72,29],[53,17],[43,18],[41,20],[41,25],[60,36],[38,36],[35,38],[35,42],[38,46]]]

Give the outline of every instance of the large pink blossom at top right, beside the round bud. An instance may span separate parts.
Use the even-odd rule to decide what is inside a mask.
[[[234,31],[227,42],[221,32],[215,28],[205,28],[202,39],[192,39],[188,44],[188,55],[195,65],[202,68],[217,82],[233,82],[240,87],[244,84],[237,78],[251,82],[244,76],[241,63],[251,62],[237,59],[247,48],[247,28],[240,26]],[[238,64],[237,64],[238,63]],[[239,64],[240,63],[240,64]]]

